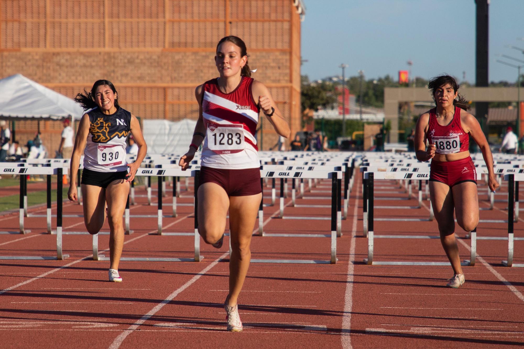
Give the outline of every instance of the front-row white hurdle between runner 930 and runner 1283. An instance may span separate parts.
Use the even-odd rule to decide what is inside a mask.
[[[153,258],[153,257],[122,257],[120,260],[127,261],[202,261],[204,256],[200,254],[200,234],[198,233],[198,192],[200,170],[181,169],[149,169],[139,168],[136,176],[158,177],[158,228],[157,235],[194,236],[194,258]],[[191,233],[166,233],[162,232],[162,181],[161,177],[194,177],[194,232]],[[93,259],[110,260],[109,257],[98,253],[98,234],[93,235]]]

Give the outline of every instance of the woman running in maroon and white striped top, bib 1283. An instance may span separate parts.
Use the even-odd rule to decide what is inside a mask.
[[[220,248],[229,210],[232,253],[224,308],[227,330],[239,332],[242,322],[237,299],[249,267],[249,245],[262,199],[255,138],[259,112],[266,115],[280,136],[288,138],[291,131],[266,86],[250,78],[242,39],[221,39],[216,46],[215,64],[220,77],[195,90],[199,119],[189,151],[179,165],[186,169],[204,140],[198,189],[199,233],[206,243]]]

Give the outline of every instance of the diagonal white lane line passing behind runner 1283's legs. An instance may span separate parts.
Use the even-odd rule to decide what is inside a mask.
[[[291,200],[289,200],[289,202],[286,204],[289,205],[291,203]],[[268,217],[268,219],[266,219],[264,222],[263,222],[263,225],[266,225],[271,219],[273,216],[277,215],[278,212],[280,210],[277,210],[275,211],[275,213],[273,213],[272,215],[270,215]],[[191,213],[192,214],[192,213]],[[255,232],[257,232],[258,229],[255,229],[253,230],[253,233],[252,234],[255,234]],[[224,253],[222,256],[220,256],[219,258],[215,259],[213,261],[213,263],[211,263],[210,265],[208,265],[207,267],[205,267],[204,269],[202,269],[198,274],[196,274],[195,276],[193,276],[191,278],[191,280],[189,280],[188,282],[184,283],[184,285],[182,285],[180,288],[174,290],[171,295],[169,295],[165,300],[161,301],[160,303],[158,303],[155,308],[151,309],[147,314],[145,314],[143,317],[141,317],[140,319],[138,319],[133,325],[130,325],[129,328],[127,330],[124,330],[124,332],[122,332],[121,334],[119,334],[115,340],[113,341],[113,343],[111,343],[111,345],[109,346],[110,349],[118,349],[121,345],[122,345],[122,342],[124,342],[124,340],[126,339],[126,337],[133,333],[133,331],[135,331],[136,329],[138,329],[138,327],[143,324],[144,322],[146,322],[149,318],[151,318],[153,315],[155,315],[160,309],[162,309],[163,306],[165,306],[167,303],[169,303],[173,298],[177,297],[180,292],[182,292],[183,290],[185,290],[186,288],[188,288],[189,286],[191,286],[194,282],[196,282],[198,279],[200,279],[200,277],[202,277],[202,275],[204,275],[206,272],[208,272],[211,268],[213,268],[217,263],[219,263],[219,261],[223,258],[225,258],[226,256],[229,255],[229,252],[226,252]]]

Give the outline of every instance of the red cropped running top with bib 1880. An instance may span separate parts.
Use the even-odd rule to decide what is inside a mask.
[[[462,129],[460,120],[461,108],[455,107],[455,114],[447,126],[436,121],[436,108],[429,111],[428,141],[435,143],[437,154],[454,154],[470,148],[470,136]]]

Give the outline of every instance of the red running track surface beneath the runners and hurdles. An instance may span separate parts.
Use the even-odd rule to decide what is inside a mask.
[[[278,181],[277,181],[278,184]],[[378,187],[378,182],[376,184]],[[392,182],[380,191],[398,191]],[[321,183],[315,190],[329,190]],[[477,265],[464,267],[466,283],[445,288],[451,267],[368,266],[367,239],[362,237],[361,181],[351,195],[348,219],[337,239],[336,265],[270,264],[250,266],[239,312],[245,329],[225,331],[223,302],[227,295],[227,238],[220,250],[202,246],[205,259],[195,262],[122,261],[122,283],[107,281],[107,261],[93,261],[90,235],[64,235],[64,253],[52,260],[0,260],[0,330],[4,347],[71,346],[136,347],[492,347],[524,344],[524,271],[507,268],[507,241],[479,240]],[[138,195],[145,192],[139,188]],[[378,191],[379,189],[377,189]],[[277,189],[278,193],[278,189]],[[307,192],[308,196],[328,193]],[[407,197],[407,194],[396,193]],[[415,205],[375,200],[375,205]],[[179,202],[191,203],[192,192]],[[376,193],[388,197],[388,193]],[[481,208],[487,208],[481,195]],[[266,189],[265,197],[270,197]],[[504,195],[497,199],[504,199]],[[286,199],[288,203],[291,199]],[[156,199],[154,198],[154,201]],[[169,214],[169,195],[165,214]],[[155,202],[137,197],[131,214],[156,214]],[[265,199],[269,203],[269,199]],[[400,202],[400,203],[399,203]],[[277,200],[278,203],[278,200]],[[329,204],[329,200],[298,199],[298,204]],[[506,219],[504,202],[481,219]],[[31,210],[45,213],[45,209]],[[64,205],[64,214],[81,206]],[[329,233],[329,221],[280,220],[278,204],[264,209],[266,233]],[[192,232],[190,206],[177,218],[164,218],[164,232]],[[329,208],[287,207],[285,216],[330,216]],[[414,210],[376,209],[375,217],[426,217]],[[81,231],[78,217],[64,217],[65,231]],[[191,236],[158,236],[156,218],[132,218],[134,234],[126,236],[126,257],[192,257]],[[53,221],[54,224],[54,221]],[[519,221],[515,236],[523,236]],[[2,230],[17,230],[18,217],[0,217]],[[43,234],[45,218],[29,217],[28,235],[0,235],[0,255],[56,254],[55,237]],[[258,227],[258,223],[256,224]],[[107,225],[103,231],[108,231]],[[435,222],[375,222],[375,234],[436,235]],[[457,235],[464,232],[457,227]],[[505,236],[505,224],[481,223],[478,236]],[[100,235],[100,249],[108,235]],[[460,239],[468,258],[469,240]],[[329,238],[259,237],[252,258],[329,259]],[[524,263],[524,243],[515,242],[515,263]],[[375,240],[375,260],[445,261],[438,239]],[[2,291],[3,290],[3,291]]]

